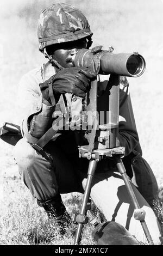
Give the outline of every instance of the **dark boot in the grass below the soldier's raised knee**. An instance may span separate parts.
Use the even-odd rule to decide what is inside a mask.
[[[45,237],[53,236],[55,231],[57,231],[57,234],[64,235],[66,229],[68,229],[72,224],[72,220],[66,211],[60,194],[57,194],[55,198],[45,202],[37,200],[37,204],[45,209],[48,216],[47,222],[41,227],[42,233]],[[32,244],[37,244],[43,240],[47,240],[39,235],[38,227],[29,229],[27,231],[27,236],[28,241]]]

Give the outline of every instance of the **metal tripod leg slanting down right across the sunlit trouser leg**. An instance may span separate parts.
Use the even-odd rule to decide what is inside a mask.
[[[130,181],[129,181],[129,178],[126,174],[126,169],[124,167],[124,164],[122,162],[122,159],[119,155],[115,155],[115,160],[116,160],[116,165],[117,165],[117,168],[119,170],[119,172],[121,173],[122,175],[122,178],[124,180],[124,183],[126,184],[126,187],[127,187],[127,191],[129,193],[129,196],[131,198],[131,202],[133,202],[134,206],[135,206],[135,212],[134,212],[134,217],[136,220],[139,220],[141,225],[142,225],[142,228],[143,228],[143,231],[147,237],[147,241],[150,245],[154,245],[153,243],[153,240],[152,240],[152,237],[151,237],[151,234],[149,233],[149,230],[148,230],[148,227],[147,227],[147,224],[145,222],[145,215],[146,215],[146,212],[140,208],[139,206],[139,203],[137,202],[137,199],[136,199],[136,196],[135,196],[135,193],[133,191],[133,188],[131,187],[131,184],[130,184]]]

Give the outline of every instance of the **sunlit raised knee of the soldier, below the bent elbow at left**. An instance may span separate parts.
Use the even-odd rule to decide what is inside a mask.
[[[25,139],[20,139],[14,147],[14,159],[18,167],[30,167],[36,160],[36,152]]]

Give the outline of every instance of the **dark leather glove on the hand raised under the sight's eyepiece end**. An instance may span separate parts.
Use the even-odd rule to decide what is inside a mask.
[[[66,68],[40,84],[43,97],[49,101],[48,88],[52,83],[54,95],[72,93],[79,97],[85,97],[90,90],[90,82],[96,77],[96,73],[87,68]]]

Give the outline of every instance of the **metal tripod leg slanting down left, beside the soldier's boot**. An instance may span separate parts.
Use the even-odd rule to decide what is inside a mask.
[[[87,172],[87,181],[86,181],[85,192],[83,196],[82,209],[80,211],[80,214],[76,216],[76,222],[78,223],[78,227],[77,227],[76,236],[74,239],[74,245],[79,244],[83,224],[87,223],[86,222],[86,211],[87,211],[86,206],[90,198],[92,181],[93,181],[93,176],[94,176],[96,167],[97,167],[97,161],[91,159],[89,163],[89,169]]]

